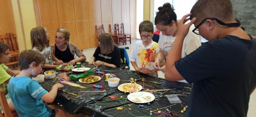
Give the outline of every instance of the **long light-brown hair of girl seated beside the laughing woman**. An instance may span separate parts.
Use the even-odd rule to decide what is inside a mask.
[[[41,52],[45,46],[49,46],[49,40],[46,36],[45,27],[38,26],[30,31],[32,48],[36,47]]]

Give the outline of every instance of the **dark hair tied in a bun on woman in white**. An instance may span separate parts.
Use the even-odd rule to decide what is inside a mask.
[[[156,13],[155,25],[170,25],[173,20],[177,22],[177,15],[170,3],[164,3],[163,6],[158,8],[158,10],[159,11]]]

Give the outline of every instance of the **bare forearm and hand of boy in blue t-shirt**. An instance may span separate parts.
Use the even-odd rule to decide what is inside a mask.
[[[54,101],[56,98],[57,92],[59,88],[62,88],[63,85],[61,83],[56,83],[55,85],[52,86],[52,89],[49,93],[45,93],[41,99],[44,100],[47,103],[51,103]]]

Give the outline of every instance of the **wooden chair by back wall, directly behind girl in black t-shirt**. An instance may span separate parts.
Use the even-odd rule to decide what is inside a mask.
[[[120,38],[119,38],[119,36],[118,36],[118,34],[117,34],[117,32],[116,32],[116,24],[114,24],[114,25],[110,25],[109,24],[109,34],[112,36],[112,38],[113,38],[113,40],[114,40],[114,42],[116,43],[116,45],[117,46],[119,46],[119,43],[123,43],[123,45],[124,45],[124,41],[123,40],[121,40],[120,41]]]

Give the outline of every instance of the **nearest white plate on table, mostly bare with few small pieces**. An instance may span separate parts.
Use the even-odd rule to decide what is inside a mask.
[[[134,92],[127,96],[127,99],[134,103],[147,103],[155,99],[155,95],[149,92]]]

